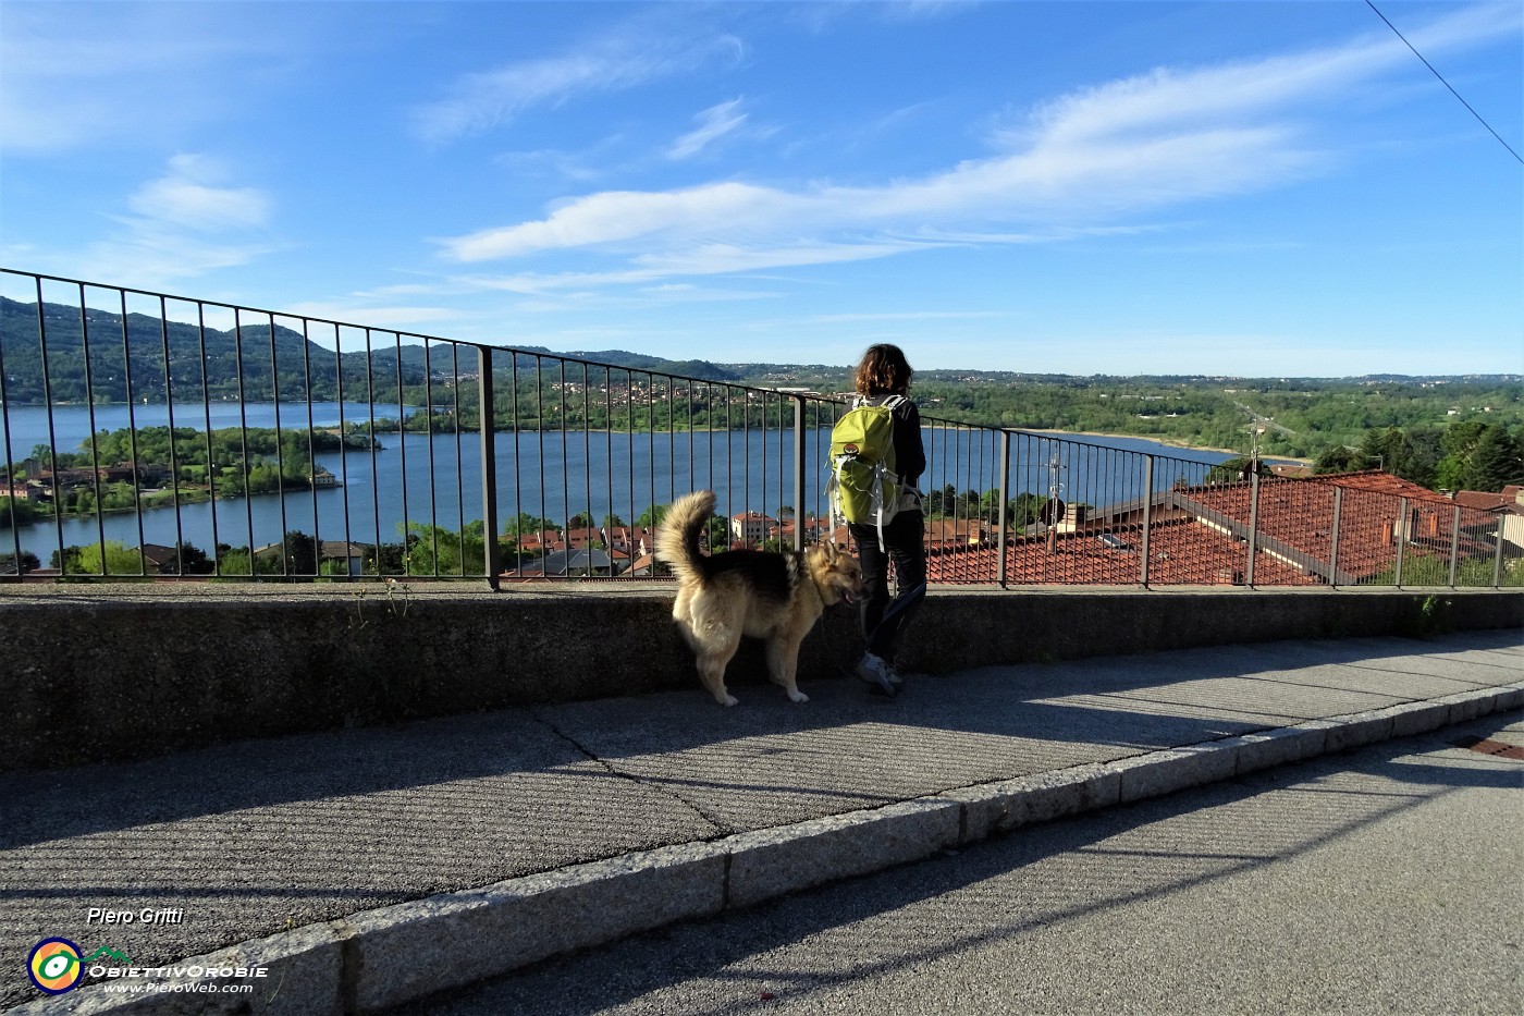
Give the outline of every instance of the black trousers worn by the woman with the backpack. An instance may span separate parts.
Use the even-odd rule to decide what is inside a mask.
[[[847,531],[863,563],[866,595],[860,609],[867,651],[893,662],[927,595],[927,519],[917,510],[896,513],[884,526],[882,551],[878,549],[878,526],[853,522]],[[893,596],[888,593],[890,561],[895,563]]]

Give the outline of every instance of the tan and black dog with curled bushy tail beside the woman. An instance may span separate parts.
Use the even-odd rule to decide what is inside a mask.
[[[672,619],[698,662],[698,676],[721,705],[736,705],[725,691],[725,667],[741,636],[767,639],[773,683],[792,702],[809,702],[799,690],[799,644],[826,607],[852,603],[863,593],[855,557],[835,543],[799,551],[725,551],[704,555],[698,535],[715,511],[715,491],[701,490],[675,500],[661,520],[657,557],[677,577]]]

